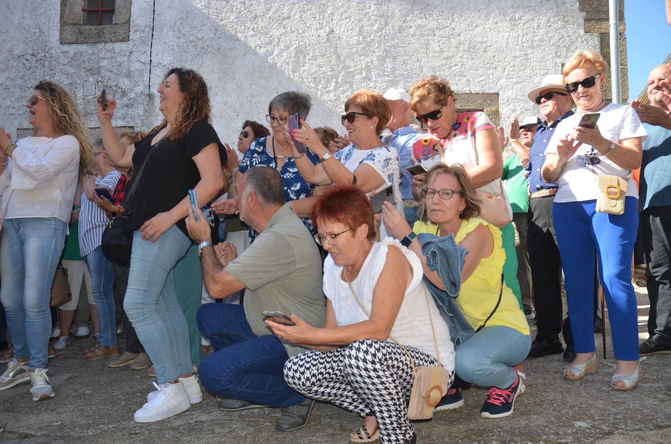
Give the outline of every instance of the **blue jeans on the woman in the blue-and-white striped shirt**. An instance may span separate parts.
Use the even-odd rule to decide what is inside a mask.
[[[91,293],[100,318],[100,345],[117,345],[117,320],[114,305],[114,267],[100,245],[84,256],[91,274]]]

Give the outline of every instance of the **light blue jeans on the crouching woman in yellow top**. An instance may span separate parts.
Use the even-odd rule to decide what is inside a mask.
[[[509,388],[517,373],[513,366],[523,362],[531,348],[531,336],[511,327],[484,327],[455,351],[457,376],[478,386]]]

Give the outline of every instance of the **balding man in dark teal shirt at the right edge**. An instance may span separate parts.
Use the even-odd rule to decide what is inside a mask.
[[[671,64],[654,68],[648,76],[651,105],[631,105],[643,121],[639,181],[639,227],[648,263],[648,339],[639,355],[671,353]]]

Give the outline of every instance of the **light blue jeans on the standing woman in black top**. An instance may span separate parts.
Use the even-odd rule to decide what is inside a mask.
[[[193,373],[189,326],[174,286],[174,266],[191,241],[176,225],[154,243],[141,236],[140,231],[133,233],[123,309],[152,359],[158,383],[166,384]]]

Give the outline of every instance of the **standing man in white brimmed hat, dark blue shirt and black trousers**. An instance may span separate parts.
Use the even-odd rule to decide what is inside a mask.
[[[527,248],[531,265],[533,298],[536,309],[537,334],[529,357],[541,357],[562,353],[564,347],[559,339],[562,331],[562,262],[552,222],[552,203],[557,194],[557,184],[548,183],[541,177],[545,162],[545,150],[557,124],[573,114],[573,101],[566,93],[561,74],[550,74],[543,78],[541,86],[531,90],[527,97],[539,105],[543,123],[538,126],[529,149],[529,213]],[[564,359],[572,360],[573,336],[570,325],[564,326],[566,353]]]

